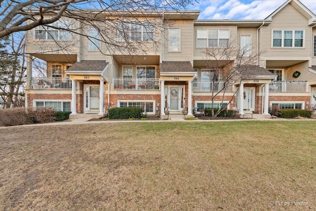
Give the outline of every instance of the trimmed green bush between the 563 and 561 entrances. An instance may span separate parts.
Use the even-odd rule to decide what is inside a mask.
[[[140,119],[142,116],[142,109],[136,107],[123,107],[109,109],[110,119]]]

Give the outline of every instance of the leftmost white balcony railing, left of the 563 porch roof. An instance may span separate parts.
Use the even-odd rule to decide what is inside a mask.
[[[31,89],[71,89],[70,79],[62,78],[32,78]]]

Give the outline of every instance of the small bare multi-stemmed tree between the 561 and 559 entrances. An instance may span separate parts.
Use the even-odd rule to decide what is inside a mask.
[[[229,103],[224,107],[219,107],[216,113],[214,113],[215,97],[221,97],[220,105],[222,105],[224,97],[227,96],[225,94],[227,91],[233,90],[233,85],[240,85],[242,80],[253,77],[251,69],[256,64],[256,56],[250,53],[250,46],[240,48],[237,46],[236,40],[224,43],[220,47],[206,47],[203,51],[205,69],[208,70],[205,75],[210,79],[212,116],[217,117],[233,101],[239,86],[229,98]]]

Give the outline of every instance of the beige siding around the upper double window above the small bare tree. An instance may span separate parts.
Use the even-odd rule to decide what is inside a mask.
[[[236,48],[237,42],[237,26],[227,25],[227,26],[195,26],[194,27],[194,60],[204,60],[204,49],[197,48],[197,29],[229,29],[230,31],[230,46],[234,49]]]

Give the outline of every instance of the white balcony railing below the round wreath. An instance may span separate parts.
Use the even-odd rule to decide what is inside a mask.
[[[306,92],[307,81],[275,81],[269,85],[271,92]]]

